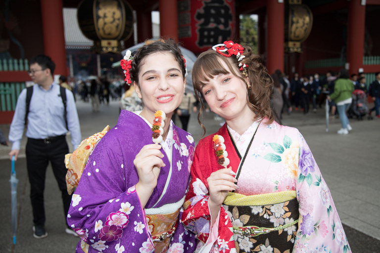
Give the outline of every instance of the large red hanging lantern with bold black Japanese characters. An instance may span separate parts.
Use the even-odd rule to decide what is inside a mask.
[[[235,32],[235,0],[178,1],[178,37],[200,53],[231,40]]]

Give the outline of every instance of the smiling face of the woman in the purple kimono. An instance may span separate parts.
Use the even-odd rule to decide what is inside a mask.
[[[170,118],[182,102],[186,79],[172,54],[154,53],[144,58],[139,84],[134,85],[144,103],[142,117],[152,120],[155,111],[161,110]]]

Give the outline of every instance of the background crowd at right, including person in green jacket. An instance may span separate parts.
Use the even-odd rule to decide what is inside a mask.
[[[322,109],[327,100],[330,118],[341,120],[342,128],[338,133],[347,134],[352,129],[348,118],[356,117],[361,120],[368,115],[369,119],[372,119],[373,111],[376,111],[375,117],[380,118],[380,72],[376,73],[375,77],[376,80],[367,85],[364,73],[349,76],[347,70],[341,69],[337,73],[328,71],[323,78],[319,73],[299,77],[295,72],[289,81],[287,74],[277,70],[272,75],[272,108],[275,120],[281,124],[282,113],[287,111],[290,114],[293,107],[295,111],[301,110],[303,114],[308,114],[310,108],[316,113],[318,107]],[[343,83],[347,85],[341,90]],[[368,108],[367,96],[372,98],[374,107]]]

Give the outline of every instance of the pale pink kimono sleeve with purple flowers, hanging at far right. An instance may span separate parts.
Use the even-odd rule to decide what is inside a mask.
[[[296,191],[300,219],[293,252],[304,252],[305,249],[351,252],[329,187],[305,139],[296,132],[299,142]]]

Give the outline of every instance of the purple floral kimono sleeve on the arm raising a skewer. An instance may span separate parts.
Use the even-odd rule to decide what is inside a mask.
[[[124,161],[119,141],[112,129],[95,146],[72,196],[67,222],[91,246],[89,252],[150,253],[154,248],[145,213],[135,185],[125,183],[125,171],[133,167],[125,168],[131,163]],[[77,251],[80,245],[85,244],[80,242]]]

